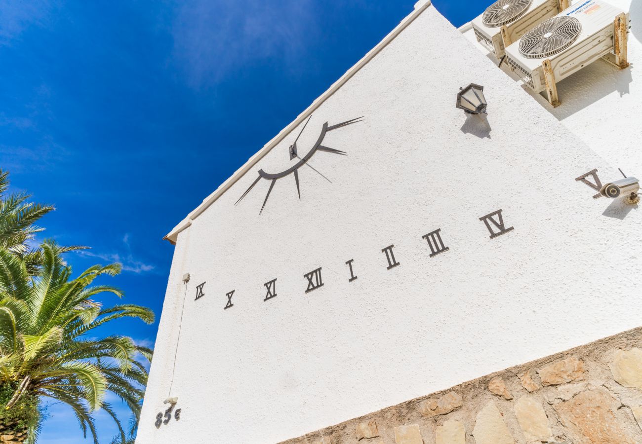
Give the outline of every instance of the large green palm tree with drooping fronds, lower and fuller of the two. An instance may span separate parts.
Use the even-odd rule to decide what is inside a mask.
[[[0,435],[35,442],[39,403],[52,398],[71,407],[84,436],[89,431],[95,443],[96,409],[114,418],[126,442],[105,394],[114,393],[137,418],[148,377],[138,356],[152,359],[152,350],[126,336],[97,339],[95,329],[126,317],[152,323],[153,312],[133,304],[103,307],[94,300],[101,293],[123,296],[116,287],[92,284],[117,275],[120,264],[92,266],[72,278],[63,247],[45,241],[41,248],[42,264],[33,276],[19,255],[0,248]]]

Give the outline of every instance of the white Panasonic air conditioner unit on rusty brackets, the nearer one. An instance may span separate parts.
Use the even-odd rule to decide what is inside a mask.
[[[559,105],[556,83],[604,57],[627,63],[629,14],[600,0],[580,1],[535,26],[506,48],[506,62],[534,92]]]

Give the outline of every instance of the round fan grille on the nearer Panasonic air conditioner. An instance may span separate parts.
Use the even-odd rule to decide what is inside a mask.
[[[568,48],[577,40],[582,24],[575,17],[553,17],[528,31],[519,41],[526,58],[546,58]]]

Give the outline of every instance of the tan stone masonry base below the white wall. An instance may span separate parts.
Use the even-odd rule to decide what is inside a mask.
[[[282,444],[348,443],[642,443],[642,327]]]

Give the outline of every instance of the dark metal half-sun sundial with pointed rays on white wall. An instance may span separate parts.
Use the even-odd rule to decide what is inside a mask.
[[[308,120],[306,121],[306,124],[304,124],[303,128],[301,129],[301,132],[299,133],[299,135],[297,135],[297,139],[295,139],[294,143],[291,144],[290,148],[288,149],[288,153],[290,155],[290,160],[296,157],[296,158],[299,158],[299,162],[297,162],[296,164],[294,164],[290,168],[288,168],[288,169],[286,169],[284,171],[281,171],[280,173],[266,173],[265,171],[263,171],[263,169],[259,169],[259,176],[256,178],[256,180],[254,180],[254,182],[252,182],[252,185],[250,185],[250,187],[247,190],[245,190],[243,195],[239,198],[239,200],[236,201],[236,203],[234,203],[234,205],[236,205],[241,200],[243,200],[243,198],[245,196],[247,196],[248,192],[250,192],[252,190],[252,188],[254,188],[254,185],[256,185],[259,182],[259,180],[261,180],[261,179],[271,180],[272,183],[270,184],[270,189],[268,189],[268,194],[266,194],[265,200],[263,201],[263,206],[261,207],[261,211],[259,211],[259,214],[261,214],[263,212],[263,209],[265,208],[265,204],[267,203],[268,198],[270,197],[270,192],[272,192],[272,188],[274,187],[274,184],[280,178],[288,176],[291,173],[294,173],[294,180],[295,180],[295,182],[297,184],[297,193],[299,194],[299,200],[300,200],[301,191],[299,189],[299,168],[302,167],[303,165],[305,165],[308,162],[308,160],[310,160],[313,157],[313,155],[315,155],[315,153],[317,151],[325,151],[327,153],[339,154],[339,155],[343,155],[343,156],[347,155],[345,153],[345,151],[339,151],[338,149],[328,148],[327,146],[323,146],[322,142],[324,140],[325,134],[327,132],[330,132],[330,131],[333,131],[333,130],[338,130],[338,128],[343,128],[343,126],[347,126],[347,125],[351,125],[353,123],[361,122],[361,119],[363,119],[363,116],[356,117],[355,119],[347,120],[345,122],[337,123],[337,124],[331,125],[331,126],[328,126],[327,122],[325,122],[323,124],[322,128],[321,128],[321,133],[319,134],[317,142],[315,142],[315,144],[312,147],[312,149],[310,149],[308,151],[308,153],[306,155],[304,155],[303,157],[299,157],[298,150],[297,150],[297,141],[299,141],[299,137],[301,136],[301,134],[306,129],[306,126],[308,126],[308,122],[310,121],[311,118],[312,118],[312,116],[308,117]]]

